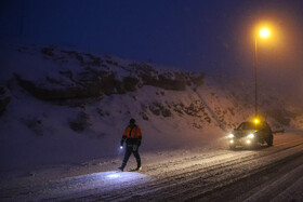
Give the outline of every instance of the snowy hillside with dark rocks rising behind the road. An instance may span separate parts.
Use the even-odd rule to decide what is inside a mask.
[[[253,115],[252,84],[239,78],[56,46],[0,54],[1,170],[117,156],[130,118],[147,151],[207,145]],[[302,108],[264,92],[260,108],[274,129],[303,125]]]

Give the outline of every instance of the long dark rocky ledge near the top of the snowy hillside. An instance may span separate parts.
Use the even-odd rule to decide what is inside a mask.
[[[57,75],[64,79],[50,78],[49,76],[39,78],[39,83],[15,73],[21,86],[34,96],[45,100],[100,97],[103,94],[124,94],[144,85],[184,91],[186,85],[198,86],[203,84],[203,73],[160,72],[144,63],[122,65],[109,56],[102,59],[100,56],[92,54],[67,50],[58,51],[55,48],[43,48],[40,52],[49,59],[54,60],[54,63],[61,58],[68,59],[69,57],[69,59],[78,60],[80,66],[84,66],[80,72],[60,71]],[[124,76],[119,77],[120,73]]]

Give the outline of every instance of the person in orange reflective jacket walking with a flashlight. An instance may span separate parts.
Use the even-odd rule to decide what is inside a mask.
[[[134,154],[135,160],[136,160],[136,169],[134,171],[141,171],[141,159],[139,154],[139,147],[141,146],[141,140],[142,140],[142,133],[141,129],[139,125],[135,124],[135,120],[131,119],[129,126],[124,130],[124,133],[122,135],[121,139],[121,146],[123,146],[123,143],[127,143],[127,149],[124,153],[124,159],[122,162],[122,165],[118,167],[118,170],[123,171],[128,160],[131,156],[131,153]]]

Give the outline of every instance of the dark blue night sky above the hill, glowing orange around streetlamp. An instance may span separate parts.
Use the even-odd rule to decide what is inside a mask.
[[[253,28],[268,21],[275,27],[275,40],[260,44],[260,66],[269,75],[303,67],[302,0],[0,2],[2,39],[75,45],[187,70],[230,75],[253,69]]]

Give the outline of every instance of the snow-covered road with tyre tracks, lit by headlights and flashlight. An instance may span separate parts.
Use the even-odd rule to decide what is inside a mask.
[[[141,173],[105,171],[63,178],[57,173],[53,179],[2,181],[1,201],[303,200],[300,134],[276,135],[274,147],[255,150],[222,147],[163,156],[150,158]]]

